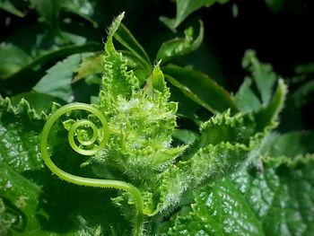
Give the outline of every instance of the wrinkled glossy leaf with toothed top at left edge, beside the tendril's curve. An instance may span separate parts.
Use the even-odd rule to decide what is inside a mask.
[[[27,101],[13,106],[9,99],[0,100],[0,162],[9,163],[19,173],[41,168],[38,134],[45,118]]]

